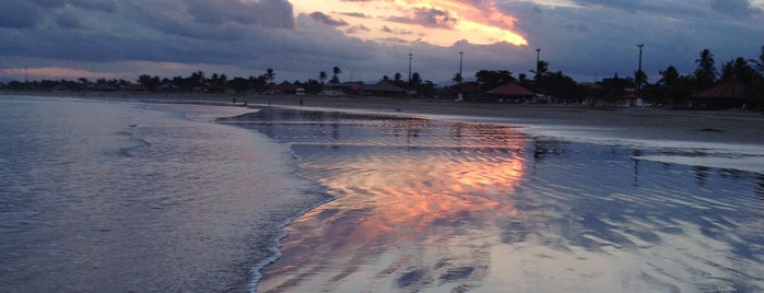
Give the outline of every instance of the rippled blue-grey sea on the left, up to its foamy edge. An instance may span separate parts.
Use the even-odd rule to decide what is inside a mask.
[[[0,292],[248,292],[329,197],[250,109],[0,97]]]

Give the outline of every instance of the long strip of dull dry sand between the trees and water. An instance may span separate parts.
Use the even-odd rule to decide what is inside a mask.
[[[574,132],[586,132],[596,128],[607,137],[624,140],[764,145],[764,113],[743,109],[674,110],[635,107],[603,109],[581,105],[458,103],[451,99],[377,96],[72,92],[3,92],[0,95],[95,98],[139,103],[203,103],[220,106],[244,106],[246,102],[247,107],[279,106],[324,112],[345,110],[413,115],[460,122],[517,125],[536,129],[557,128]],[[235,104],[232,103],[234,98]],[[579,133],[580,137],[587,134],[583,132]],[[574,136],[577,134],[574,133]]]

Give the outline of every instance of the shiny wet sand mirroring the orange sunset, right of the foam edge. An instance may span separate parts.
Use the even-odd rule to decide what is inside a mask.
[[[336,197],[286,227],[261,292],[764,291],[761,145],[270,107],[223,122]]]

